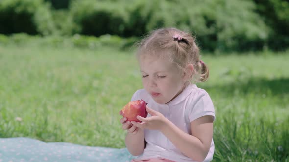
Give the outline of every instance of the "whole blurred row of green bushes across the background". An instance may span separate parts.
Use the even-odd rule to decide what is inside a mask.
[[[177,27],[203,50],[279,50],[289,47],[288,15],[288,0],[1,0],[0,33],[142,37]]]

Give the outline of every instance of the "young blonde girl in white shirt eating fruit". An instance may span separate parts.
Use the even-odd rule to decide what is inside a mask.
[[[120,119],[125,144],[138,156],[131,162],[211,161],[215,110],[208,93],[194,81],[206,81],[209,70],[200,60],[194,38],[175,28],[153,31],[137,53],[144,89],[131,101],[144,100],[146,118]]]

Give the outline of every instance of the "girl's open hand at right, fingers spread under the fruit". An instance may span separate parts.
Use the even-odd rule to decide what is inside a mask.
[[[161,128],[167,125],[169,120],[165,118],[162,113],[157,112],[151,108],[148,108],[147,106],[146,106],[146,111],[152,116],[147,117],[147,118],[137,116],[137,119],[143,122],[140,123],[140,122],[132,121],[131,123],[134,126],[141,128],[141,129],[153,129],[153,130],[160,130]]]

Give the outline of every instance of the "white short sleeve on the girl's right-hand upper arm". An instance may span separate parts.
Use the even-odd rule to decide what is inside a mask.
[[[209,94],[203,90],[191,104],[189,111],[189,121],[200,118],[202,116],[211,115],[215,121],[215,109]]]

